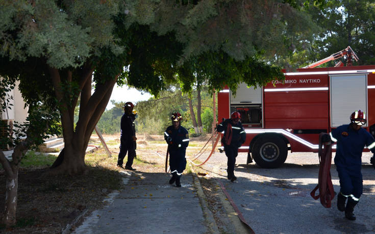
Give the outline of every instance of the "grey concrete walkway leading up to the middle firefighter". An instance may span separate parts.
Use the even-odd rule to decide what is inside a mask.
[[[177,188],[166,173],[123,173],[123,190],[110,194],[107,205],[72,233],[217,233],[192,174],[183,174]]]

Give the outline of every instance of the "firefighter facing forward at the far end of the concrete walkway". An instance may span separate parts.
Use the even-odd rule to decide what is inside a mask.
[[[186,168],[186,147],[189,145],[189,133],[181,126],[182,116],[176,112],[171,117],[172,125],[164,132],[164,139],[168,144],[169,167],[172,177],[169,184],[176,181],[176,187],[181,187],[181,175]]]

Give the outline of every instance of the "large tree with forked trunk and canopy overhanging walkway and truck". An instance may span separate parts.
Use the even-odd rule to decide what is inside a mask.
[[[24,87],[32,84],[30,77],[51,84],[65,142],[53,171],[80,173],[90,135],[116,82],[157,95],[176,79],[189,91],[195,71],[201,71],[213,89],[227,84],[235,90],[239,82],[256,86],[280,79],[280,68],[263,58],[285,53],[289,35],[308,32],[310,20],[287,2],[299,3],[4,0],[2,66],[21,63],[18,79]],[[34,73],[33,67],[38,68]]]

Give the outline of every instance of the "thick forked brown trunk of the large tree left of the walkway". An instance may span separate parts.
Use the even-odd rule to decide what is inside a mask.
[[[72,100],[69,105],[63,105],[60,108],[65,146],[52,165],[52,170],[48,172],[49,174],[81,174],[86,172],[85,153],[88,142],[96,123],[106,110],[113,87],[118,79],[117,75],[114,79],[96,84],[95,91],[91,95],[92,71],[92,69],[88,68],[87,72],[83,72],[80,79],[80,88],[82,90],[80,114],[75,129],[73,114],[78,97]],[[52,69],[50,73],[55,90],[57,90],[55,91],[56,96],[58,99],[62,99],[63,95],[59,93],[59,90],[61,90],[59,71]]]

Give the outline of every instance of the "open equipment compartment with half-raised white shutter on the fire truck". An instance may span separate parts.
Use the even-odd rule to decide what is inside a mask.
[[[230,112],[238,111],[241,114],[244,127],[262,127],[262,90],[262,87],[247,88],[245,83],[241,83],[235,96],[231,92]]]

